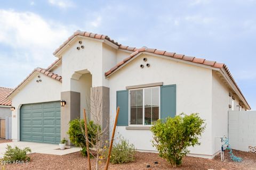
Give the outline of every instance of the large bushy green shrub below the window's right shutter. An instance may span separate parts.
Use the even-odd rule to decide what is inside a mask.
[[[204,120],[197,113],[181,114],[165,121],[158,120],[151,127],[153,146],[159,156],[165,158],[173,167],[182,164],[182,158],[188,154],[189,146],[200,145],[198,137],[205,129]]]

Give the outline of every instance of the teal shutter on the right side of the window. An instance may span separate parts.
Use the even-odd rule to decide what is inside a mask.
[[[176,84],[161,86],[161,119],[176,115]]]

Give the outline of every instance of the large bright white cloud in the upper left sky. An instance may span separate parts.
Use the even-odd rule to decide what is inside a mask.
[[[56,22],[46,22],[35,13],[12,10],[0,10],[0,25],[0,43],[33,53],[31,57],[37,59],[42,57],[42,51],[58,47],[61,40],[75,30]]]

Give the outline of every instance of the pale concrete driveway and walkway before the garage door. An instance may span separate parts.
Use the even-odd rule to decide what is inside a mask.
[[[47,143],[35,143],[35,142],[7,142],[0,143],[0,158],[3,158],[6,146],[10,145],[12,147],[17,146],[21,149],[29,147],[32,153],[39,154],[52,154],[52,155],[66,155],[73,152],[77,152],[80,148],[74,147],[65,150],[60,150],[59,145],[47,144]]]

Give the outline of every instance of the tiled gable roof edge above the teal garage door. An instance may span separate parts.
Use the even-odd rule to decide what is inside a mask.
[[[39,72],[42,73],[44,75],[46,75],[47,77],[50,77],[54,80],[60,81],[62,82],[62,77],[58,74],[54,74],[46,69],[42,69],[40,67],[37,67],[36,69],[34,69],[29,75],[28,77],[25,78],[25,80],[23,80],[15,89],[13,89],[13,91],[11,92],[11,94],[9,94],[7,97],[10,97],[15,91],[17,91],[23,83],[25,83],[35,72]]]

